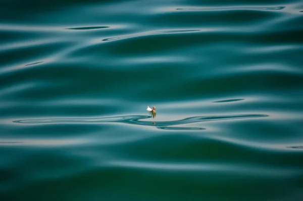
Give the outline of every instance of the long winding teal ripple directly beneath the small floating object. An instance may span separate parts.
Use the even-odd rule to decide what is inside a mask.
[[[155,126],[159,129],[165,130],[205,130],[205,128],[188,128],[188,127],[169,127],[181,124],[190,124],[206,121],[220,121],[231,119],[246,119],[246,118],[260,118],[268,117],[268,115],[262,114],[244,114],[244,115],[225,115],[225,116],[198,116],[189,117],[186,119],[176,121],[139,121],[141,119],[151,118],[146,115],[130,115],[130,116],[118,116],[118,117],[100,117],[100,118],[53,118],[53,119],[25,119],[16,120],[14,123],[23,124],[47,124],[47,123],[125,123],[141,126]]]

